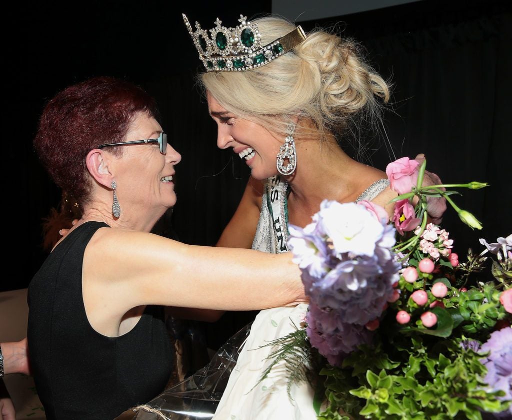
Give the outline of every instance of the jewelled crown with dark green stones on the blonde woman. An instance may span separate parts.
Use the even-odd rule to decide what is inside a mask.
[[[247,17],[243,15],[238,19],[240,25],[235,28],[222,26],[222,21],[217,18],[216,27],[209,30],[211,37],[198,22],[194,32],[184,14],[183,21],[206,71],[244,71],[261,67],[306,39],[303,29],[297,26],[281,38],[262,46],[258,24],[247,22]]]

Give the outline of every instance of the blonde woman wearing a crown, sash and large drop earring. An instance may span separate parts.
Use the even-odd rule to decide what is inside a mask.
[[[199,79],[218,125],[217,145],[251,169],[218,246],[287,252],[288,225],[310,223],[326,198],[369,200],[392,214],[396,193],[386,173],[343,150],[350,139],[364,148],[357,144],[361,124],[377,127],[390,97],[353,41],[323,30],[305,34],[281,18],[244,16],[236,28],[217,21],[208,37],[184,18],[205,65]],[[225,47],[224,37],[230,37]],[[443,206],[433,203],[431,216],[439,217]],[[259,313],[215,418],[316,418],[307,384],[293,387],[288,398],[283,366],[256,386],[272,350],[261,346],[293,331],[306,310],[301,304]]]

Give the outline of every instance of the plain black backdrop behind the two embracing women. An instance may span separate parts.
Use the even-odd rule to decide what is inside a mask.
[[[480,249],[478,237],[494,242],[512,231],[507,3],[421,1],[301,23],[306,31],[319,24],[357,38],[374,67],[392,79],[393,104],[384,123],[396,157],[424,152],[428,168],[446,183],[491,184],[456,197],[483,222],[483,232],[462,226],[450,210],[445,216],[459,254],[468,246]],[[238,156],[216,147],[215,124],[194,82],[200,62],[181,12],[211,28],[217,15],[235,26],[240,13],[268,13],[270,7],[267,0],[181,7],[158,0],[57,1],[18,2],[4,13],[4,261],[13,274],[4,274],[0,290],[27,287],[45,258],[41,219],[60,199],[33,151],[38,116],[58,91],[92,76],[125,78],[156,97],[161,124],[183,156],[174,229],[183,242],[215,244],[248,171]],[[383,169],[390,153],[376,149],[372,163]]]

